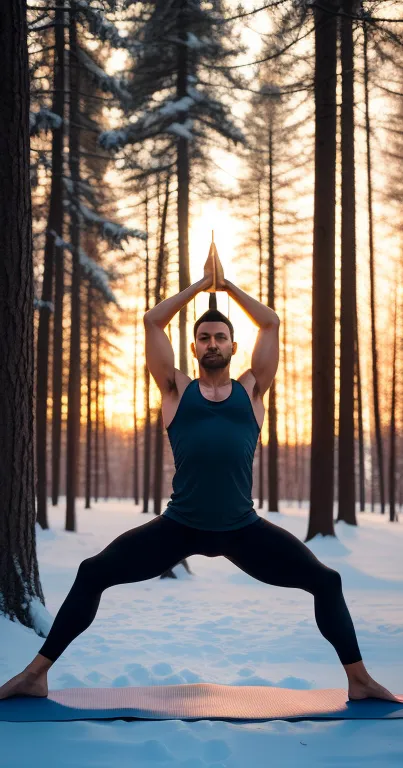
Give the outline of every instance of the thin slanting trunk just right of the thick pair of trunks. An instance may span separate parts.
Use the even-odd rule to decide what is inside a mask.
[[[376,339],[376,317],[375,317],[375,267],[374,267],[374,226],[372,213],[372,160],[371,160],[371,128],[369,119],[369,95],[368,95],[368,30],[366,23],[363,24],[364,33],[364,91],[365,91],[365,133],[367,145],[367,189],[368,189],[368,228],[369,228],[369,276],[371,287],[371,349],[372,349],[372,382],[374,396],[374,419],[375,419],[375,439],[378,459],[378,479],[379,494],[381,502],[381,513],[385,513],[385,483],[383,469],[383,446],[382,446],[382,427],[379,408],[379,386],[378,386],[378,347]]]

